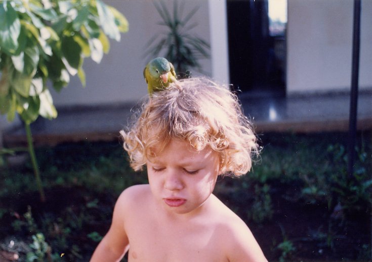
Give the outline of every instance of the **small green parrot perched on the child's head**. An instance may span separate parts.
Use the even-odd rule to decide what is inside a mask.
[[[160,91],[169,86],[169,83],[177,81],[174,66],[165,58],[151,60],[143,70],[143,77],[147,83],[147,91],[151,95],[154,91]]]

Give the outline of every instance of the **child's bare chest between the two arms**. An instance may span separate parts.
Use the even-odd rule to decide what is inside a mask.
[[[127,229],[129,262],[227,262],[214,226],[183,227],[159,224],[154,219],[136,222]]]

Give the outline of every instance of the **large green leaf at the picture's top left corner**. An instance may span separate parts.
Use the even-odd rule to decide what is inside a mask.
[[[18,48],[18,36],[21,32],[17,12],[7,1],[0,3],[0,46],[10,54]]]

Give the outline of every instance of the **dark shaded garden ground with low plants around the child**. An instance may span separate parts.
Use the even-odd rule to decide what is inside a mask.
[[[261,135],[253,171],[220,177],[215,194],[249,225],[270,261],[370,261],[371,137],[358,134],[349,179],[347,134]],[[117,196],[146,183],[146,173],[130,169],[119,142],[36,151],[45,203],[27,158],[11,165],[23,155],[9,163],[3,157],[0,166],[0,261],[8,253],[18,261],[88,261],[108,230]]]

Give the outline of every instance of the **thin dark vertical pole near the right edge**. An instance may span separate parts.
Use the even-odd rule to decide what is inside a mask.
[[[353,179],[353,166],[355,161],[356,124],[358,106],[358,80],[359,80],[359,47],[360,47],[360,9],[361,0],[354,0],[353,22],[353,54],[351,69],[349,139],[348,139],[348,175]]]

